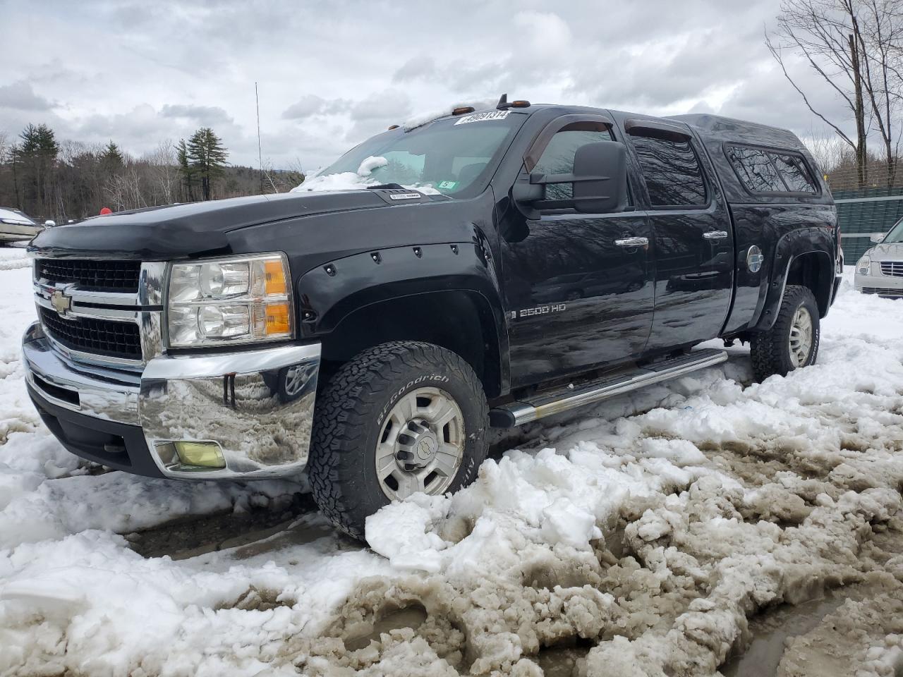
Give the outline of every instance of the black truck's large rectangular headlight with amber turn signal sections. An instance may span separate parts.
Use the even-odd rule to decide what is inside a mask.
[[[291,338],[284,254],[172,264],[166,298],[171,348]]]

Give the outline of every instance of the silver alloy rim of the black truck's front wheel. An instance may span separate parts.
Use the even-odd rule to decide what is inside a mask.
[[[464,415],[450,394],[432,387],[406,393],[377,438],[379,488],[390,500],[444,493],[461,468],[465,440]]]

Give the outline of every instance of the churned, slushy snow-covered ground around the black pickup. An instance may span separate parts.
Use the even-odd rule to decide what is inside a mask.
[[[471,487],[371,518],[372,549],[309,512],[172,557],[136,543],[278,515],[299,487],[70,456],[25,393],[33,312],[27,260],[0,249],[0,674],[710,675],[749,617],[826,589],[857,592],[779,673],[903,669],[903,302],[848,280],[817,366],[751,385],[731,348],[533,424]]]

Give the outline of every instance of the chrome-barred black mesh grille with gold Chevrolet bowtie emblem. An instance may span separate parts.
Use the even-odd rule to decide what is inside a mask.
[[[141,370],[162,351],[164,263],[37,258],[34,296],[57,352],[88,366]]]

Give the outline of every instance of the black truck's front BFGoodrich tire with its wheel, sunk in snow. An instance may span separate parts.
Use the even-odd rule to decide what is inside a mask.
[[[333,524],[362,539],[383,505],[456,491],[486,458],[479,378],[450,350],[393,341],[359,353],[317,398],[308,477]]]

